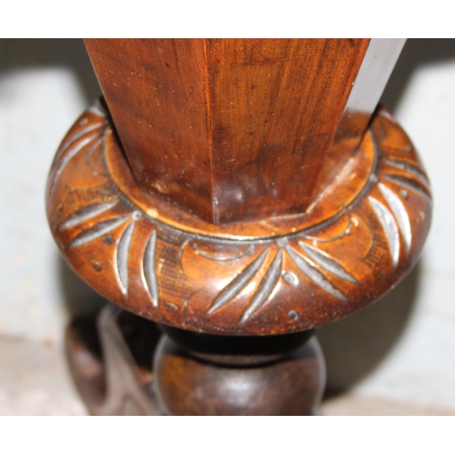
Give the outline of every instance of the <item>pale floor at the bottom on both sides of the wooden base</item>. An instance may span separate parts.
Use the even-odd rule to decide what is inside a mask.
[[[345,394],[325,400],[321,415],[451,415],[376,397]],[[0,415],[86,415],[62,349],[25,340],[0,339]]]

